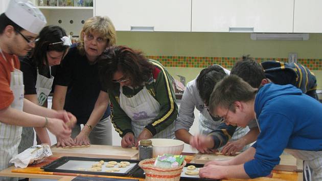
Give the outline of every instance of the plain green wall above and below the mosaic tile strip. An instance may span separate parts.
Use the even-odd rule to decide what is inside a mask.
[[[298,58],[322,58],[322,33],[310,34],[307,41],[250,39],[249,33],[192,32],[117,32],[118,44],[142,50],[146,55],[287,58],[295,52]],[[167,67],[175,78],[194,79],[202,68]],[[322,71],[312,71],[322,89]]]

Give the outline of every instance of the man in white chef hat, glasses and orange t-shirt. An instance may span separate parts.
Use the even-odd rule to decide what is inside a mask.
[[[72,126],[76,122],[66,111],[47,109],[24,99],[17,56],[26,56],[34,48],[37,34],[46,23],[39,9],[26,0],[11,0],[0,15],[0,171],[8,168],[10,159],[17,154],[21,126],[35,127],[41,142],[50,144],[45,128],[55,135],[70,137],[71,126],[65,122],[72,121]]]

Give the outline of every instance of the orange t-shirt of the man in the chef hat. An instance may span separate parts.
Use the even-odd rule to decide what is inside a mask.
[[[0,110],[9,107],[13,102],[14,96],[10,89],[10,73],[13,72],[14,67],[20,69],[20,62],[17,56],[5,52],[3,54],[8,61],[0,53]]]

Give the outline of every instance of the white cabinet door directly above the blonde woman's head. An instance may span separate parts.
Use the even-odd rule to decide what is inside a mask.
[[[191,31],[191,0],[96,0],[117,31]]]

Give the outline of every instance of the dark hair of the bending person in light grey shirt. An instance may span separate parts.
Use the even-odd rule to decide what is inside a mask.
[[[206,106],[209,105],[209,98],[217,82],[227,74],[219,65],[210,65],[203,69],[196,79],[199,95]]]

